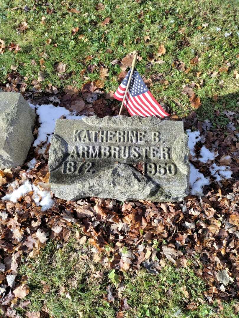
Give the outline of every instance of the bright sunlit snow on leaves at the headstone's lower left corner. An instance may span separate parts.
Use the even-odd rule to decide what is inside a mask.
[[[51,192],[47,190],[40,190],[38,186],[26,180],[18,189],[13,190],[12,193],[6,194],[2,197],[3,201],[12,201],[16,203],[24,194],[33,191],[33,200],[37,206],[41,206],[42,211],[50,209],[54,205],[54,200],[51,197]]]

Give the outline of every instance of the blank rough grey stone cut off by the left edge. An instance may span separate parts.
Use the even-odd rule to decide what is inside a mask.
[[[25,162],[34,140],[35,112],[20,93],[0,92],[0,168]]]

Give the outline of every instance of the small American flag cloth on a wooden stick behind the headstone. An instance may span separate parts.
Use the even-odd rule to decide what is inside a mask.
[[[114,98],[123,100],[126,86],[128,83],[131,69],[128,71],[126,77],[114,93]],[[162,106],[156,101],[154,96],[149,92],[147,86],[144,84],[140,74],[134,69],[130,85],[127,91],[124,106],[131,116],[139,115],[141,117],[156,116],[165,117],[169,114],[163,110]]]

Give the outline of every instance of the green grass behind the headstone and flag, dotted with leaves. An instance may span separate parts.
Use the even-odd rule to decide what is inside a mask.
[[[113,66],[114,59],[122,59],[127,53],[138,50],[141,61],[137,63],[138,71],[146,78],[160,73],[162,83],[157,81],[151,86],[151,92],[158,100],[163,100],[172,111],[179,116],[188,114],[192,107],[182,87],[187,84],[198,84],[195,92],[200,97],[202,106],[198,110],[201,119],[214,120],[225,125],[227,117],[224,109],[235,110],[239,100],[239,80],[234,78],[234,71],[239,73],[239,1],[221,0],[107,0],[102,1],[104,10],[96,10],[99,0],[85,1],[45,1],[35,3],[32,0],[2,0],[0,2],[0,38],[5,41],[5,52],[0,54],[0,81],[8,82],[11,65],[18,65],[17,72],[32,87],[32,80],[38,78],[41,70],[45,80],[41,82],[42,90],[49,83],[62,91],[67,85],[81,88],[88,79],[83,79],[80,72],[85,69],[89,80],[99,79],[98,67],[104,64],[109,70],[105,81],[105,92],[115,90],[118,86],[119,66]],[[29,11],[22,8],[27,5]],[[48,14],[47,8],[53,13]],[[69,12],[68,9],[80,10],[80,13]],[[45,24],[41,24],[45,17]],[[106,26],[102,22],[110,17]],[[28,29],[18,32],[19,25],[26,21]],[[208,23],[208,26],[203,24]],[[72,29],[79,31],[72,35]],[[199,27],[202,27],[201,29]],[[216,28],[220,27],[221,31]],[[180,33],[180,29],[185,29]],[[231,35],[225,37],[225,33]],[[83,35],[82,39],[78,36]],[[150,41],[145,42],[144,36]],[[50,45],[46,44],[51,39]],[[10,52],[7,46],[11,42],[20,45],[17,54]],[[54,46],[57,44],[57,47]],[[166,54],[161,56],[164,64],[154,64],[146,69],[148,54],[157,54],[158,47],[163,44]],[[112,53],[106,50],[111,49]],[[44,68],[40,66],[40,53],[46,52]],[[86,61],[87,56],[92,59]],[[201,58],[196,65],[190,60],[195,56]],[[36,65],[32,64],[32,60]],[[180,72],[172,66],[173,62],[182,61],[185,68],[191,67],[188,73]],[[55,65],[59,62],[67,64],[64,80],[59,79]],[[218,73],[213,78],[211,73],[218,71],[230,63],[227,72]],[[97,68],[89,73],[87,66],[96,64]],[[147,73],[146,73],[147,71]],[[198,77],[197,77],[197,73]],[[218,99],[213,100],[217,95]],[[215,116],[215,110],[221,114]]]

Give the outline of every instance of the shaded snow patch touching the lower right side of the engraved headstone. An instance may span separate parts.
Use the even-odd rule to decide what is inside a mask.
[[[192,163],[190,163],[190,193],[196,196],[203,195],[203,187],[210,184],[209,178],[199,172],[199,169],[196,169]]]

